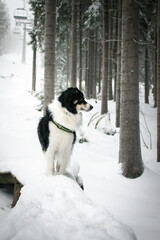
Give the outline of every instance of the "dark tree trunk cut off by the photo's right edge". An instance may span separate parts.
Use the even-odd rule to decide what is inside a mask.
[[[157,14],[157,162],[160,162],[160,1]]]

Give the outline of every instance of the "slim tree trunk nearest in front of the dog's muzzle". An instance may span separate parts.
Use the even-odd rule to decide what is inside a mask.
[[[107,90],[108,90],[108,2],[102,1],[103,9],[103,77],[102,77],[102,105],[101,114],[108,112]]]

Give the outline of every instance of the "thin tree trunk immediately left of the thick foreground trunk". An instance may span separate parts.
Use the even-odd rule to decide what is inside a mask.
[[[116,127],[120,127],[120,83],[121,83],[121,31],[122,31],[122,0],[118,1],[118,56],[116,83]]]

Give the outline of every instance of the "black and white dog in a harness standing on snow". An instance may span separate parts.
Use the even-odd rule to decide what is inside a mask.
[[[93,107],[78,88],[68,88],[58,100],[48,105],[38,125],[38,136],[47,163],[47,174],[64,174],[70,162],[76,130],[81,125],[81,111]]]

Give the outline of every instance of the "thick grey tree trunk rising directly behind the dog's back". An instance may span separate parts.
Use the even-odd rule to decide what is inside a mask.
[[[44,106],[54,99],[56,0],[45,1]]]

